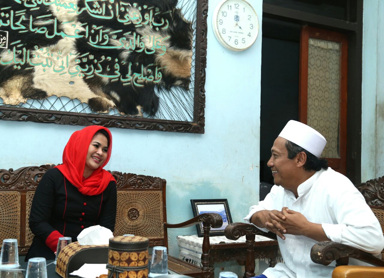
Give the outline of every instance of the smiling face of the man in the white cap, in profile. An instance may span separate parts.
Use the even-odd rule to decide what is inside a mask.
[[[295,190],[298,167],[296,159],[288,158],[288,151],[285,147],[286,140],[277,137],[271,148],[271,158],[268,160],[268,167],[271,167],[275,185],[281,185],[287,190]]]

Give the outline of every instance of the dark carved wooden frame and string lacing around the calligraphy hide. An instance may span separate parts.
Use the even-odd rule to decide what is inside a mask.
[[[98,1],[98,0],[95,0]],[[100,0],[101,1],[101,0]],[[127,0],[128,1],[128,0]],[[129,0],[131,1],[131,0]],[[131,2],[134,2],[132,0]],[[142,1],[141,1],[142,2]],[[189,86],[190,100],[187,100],[191,110],[187,112],[188,117],[172,117],[171,114],[156,115],[156,117],[146,117],[145,115],[120,115],[111,113],[83,113],[84,108],[72,109],[70,111],[45,109],[45,103],[39,102],[38,108],[30,105],[25,106],[20,103],[19,105],[10,105],[2,101],[0,97],[0,119],[8,121],[24,121],[24,122],[37,122],[37,123],[56,123],[61,125],[101,125],[104,127],[116,127],[116,128],[130,128],[141,130],[158,130],[169,132],[187,132],[187,133],[204,133],[205,117],[205,68],[206,68],[206,55],[207,55],[207,14],[208,14],[208,0],[179,0],[183,2],[180,6],[185,7],[184,2],[188,3],[192,7],[193,14],[189,15],[193,19],[193,56],[192,56],[192,68],[191,78]],[[4,8],[4,7],[0,7]],[[2,28],[0,28],[2,29]],[[8,34],[8,33],[7,33]],[[12,42],[12,38],[7,38],[7,46],[16,45],[16,42]],[[0,45],[1,47],[1,45]],[[0,48],[0,52],[3,48]],[[1,78],[0,78],[1,79]],[[2,82],[0,80],[0,90]],[[160,90],[160,89],[159,89]],[[161,89],[162,93],[169,93],[168,89]],[[29,100],[29,99],[28,99]],[[65,107],[60,98],[54,100],[59,103],[59,106]],[[61,102],[61,104],[60,104]],[[174,102],[174,100],[170,100]],[[28,103],[28,102],[27,102]],[[82,104],[82,103],[81,103]],[[180,106],[185,106],[185,103],[176,104],[176,112]],[[54,107],[48,106],[48,107]],[[138,108],[139,109],[139,108]],[[93,110],[92,110],[93,111]],[[140,110],[139,110],[140,111]],[[169,116],[171,115],[171,116]]]

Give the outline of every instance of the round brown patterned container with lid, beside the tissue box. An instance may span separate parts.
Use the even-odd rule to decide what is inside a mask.
[[[149,240],[144,236],[115,236],[109,239],[108,276],[148,278]]]

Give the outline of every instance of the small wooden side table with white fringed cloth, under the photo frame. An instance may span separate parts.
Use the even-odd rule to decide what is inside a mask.
[[[195,264],[201,263],[203,238],[192,236],[178,236],[180,258],[190,260]],[[200,243],[201,241],[201,243]],[[270,266],[276,265],[278,258],[277,240],[256,235],[255,238],[255,259],[270,259]],[[215,243],[216,242],[216,243]],[[228,240],[225,236],[211,236],[209,245],[210,267],[213,268],[216,262],[237,261],[239,265],[245,265],[247,257],[247,245],[245,236],[238,240]]]

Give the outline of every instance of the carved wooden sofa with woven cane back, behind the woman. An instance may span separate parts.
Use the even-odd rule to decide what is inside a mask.
[[[17,238],[19,254],[25,255],[33,234],[28,220],[33,195],[44,173],[55,165],[29,166],[17,170],[0,169],[0,240]],[[168,248],[167,228],[183,228],[203,223],[202,268],[169,256],[169,268],[176,273],[209,278],[209,231],[223,224],[220,215],[205,213],[179,224],[167,223],[166,180],[112,171],[117,185],[117,214],[114,235],[134,234],[149,238],[149,246]],[[1,246],[1,245],[0,245]]]

